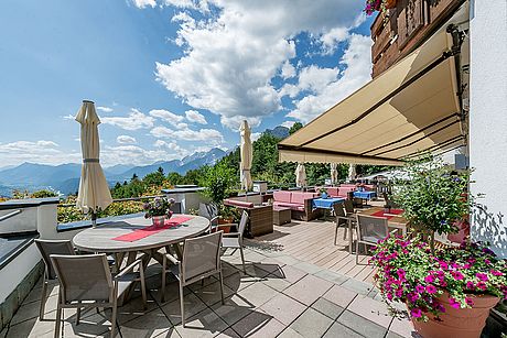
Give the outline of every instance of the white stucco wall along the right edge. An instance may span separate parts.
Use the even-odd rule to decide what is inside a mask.
[[[474,194],[472,238],[507,257],[507,1],[471,2],[470,160]]]

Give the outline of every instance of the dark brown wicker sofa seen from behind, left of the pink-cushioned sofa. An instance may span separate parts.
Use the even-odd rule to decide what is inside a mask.
[[[248,212],[248,225],[245,231],[247,238],[254,238],[256,236],[262,236],[266,233],[273,232],[273,207],[272,206],[256,206],[254,203],[237,200],[237,199],[224,199],[224,205],[229,207],[236,207],[244,209]]]

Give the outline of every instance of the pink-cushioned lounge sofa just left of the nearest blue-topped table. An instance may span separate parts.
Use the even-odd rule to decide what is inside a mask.
[[[309,221],[322,215],[321,209],[313,209],[313,199],[319,193],[287,192],[273,193],[273,206],[291,209],[291,218]]]

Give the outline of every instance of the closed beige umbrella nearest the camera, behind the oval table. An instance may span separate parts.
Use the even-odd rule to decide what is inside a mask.
[[[95,111],[94,102],[83,101],[83,106],[77,112],[76,121],[80,123],[80,146],[83,152],[83,166],[76,206],[85,214],[91,212],[91,221],[95,226],[97,211],[107,208],[112,203],[112,198],[99,163],[100,145],[97,127],[100,120]]]

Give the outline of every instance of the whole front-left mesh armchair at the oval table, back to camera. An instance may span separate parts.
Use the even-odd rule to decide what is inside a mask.
[[[54,337],[60,337],[62,309],[77,308],[76,325],[79,324],[80,309],[89,307],[111,307],[111,337],[116,332],[117,302],[137,281],[141,282],[141,294],[147,308],[144,268],[142,259],[125,268],[112,276],[105,253],[83,255],[50,255],[60,282],[58,304]],[[139,266],[139,274],[133,269]]]

